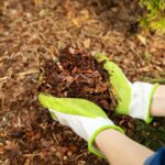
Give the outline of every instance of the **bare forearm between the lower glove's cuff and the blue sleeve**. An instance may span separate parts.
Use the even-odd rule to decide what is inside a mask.
[[[102,131],[96,138],[96,144],[112,165],[142,165],[153,154],[151,150],[112,129]]]

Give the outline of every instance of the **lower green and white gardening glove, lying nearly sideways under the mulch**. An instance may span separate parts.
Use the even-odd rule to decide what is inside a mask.
[[[94,145],[96,136],[107,129],[123,132],[108,119],[100,107],[88,100],[55,98],[44,94],[38,95],[38,100],[43,107],[50,110],[54,120],[73,129],[88,142],[88,150],[100,157],[105,156]]]

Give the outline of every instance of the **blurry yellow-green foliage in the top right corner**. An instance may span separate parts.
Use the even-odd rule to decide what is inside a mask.
[[[141,25],[164,34],[165,0],[141,0],[140,4],[147,10],[145,16],[141,19]]]

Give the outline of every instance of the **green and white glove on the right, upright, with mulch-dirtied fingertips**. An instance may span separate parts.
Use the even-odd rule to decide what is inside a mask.
[[[106,55],[98,53],[95,58],[98,63],[102,63],[103,68],[109,74],[111,91],[118,100],[116,112],[142,119],[150,123],[152,121],[150,116],[151,102],[158,84],[151,85],[141,81],[131,84],[120,67],[110,62]]]

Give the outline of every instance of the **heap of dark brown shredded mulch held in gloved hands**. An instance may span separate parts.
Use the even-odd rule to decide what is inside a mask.
[[[110,92],[109,76],[90,53],[67,46],[56,59],[45,64],[38,91],[55,97],[84,98],[107,112],[117,105]]]

